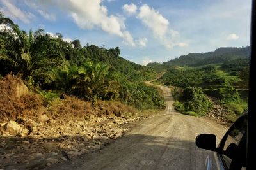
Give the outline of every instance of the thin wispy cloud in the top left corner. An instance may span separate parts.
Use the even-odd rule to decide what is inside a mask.
[[[6,17],[22,20],[22,22],[26,24],[29,24],[31,22],[31,19],[34,17],[32,13],[20,10],[20,8],[15,6],[13,1],[1,0],[0,4],[1,4],[0,11],[4,15],[6,15]]]

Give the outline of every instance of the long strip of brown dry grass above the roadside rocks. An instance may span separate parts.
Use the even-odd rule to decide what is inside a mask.
[[[136,113],[131,106],[118,101],[98,101],[95,107],[86,101],[76,97],[65,96],[60,102],[44,106],[44,100],[40,95],[26,90],[26,85],[19,77],[8,74],[0,80],[0,122],[17,120],[18,117],[35,118],[46,113],[54,119],[74,120],[85,118],[90,115],[102,117],[104,115],[115,115],[122,117],[125,113]]]

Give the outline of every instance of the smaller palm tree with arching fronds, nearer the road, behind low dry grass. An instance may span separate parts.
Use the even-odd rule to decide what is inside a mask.
[[[118,95],[116,90],[118,83],[111,78],[107,65],[86,62],[83,66],[77,67],[76,74],[70,77],[73,92],[82,94],[85,99],[92,101],[92,106],[95,106],[98,99],[104,99],[109,93]]]

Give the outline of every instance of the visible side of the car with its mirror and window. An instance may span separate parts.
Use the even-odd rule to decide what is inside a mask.
[[[196,137],[196,146],[214,152],[213,156],[206,158],[205,169],[246,169],[247,124],[248,113],[244,113],[231,125],[217,147],[214,134],[199,134]]]

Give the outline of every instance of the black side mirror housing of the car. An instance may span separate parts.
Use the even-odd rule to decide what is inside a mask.
[[[205,150],[217,151],[214,134],[199,134],[195,139],[196,146]]]

